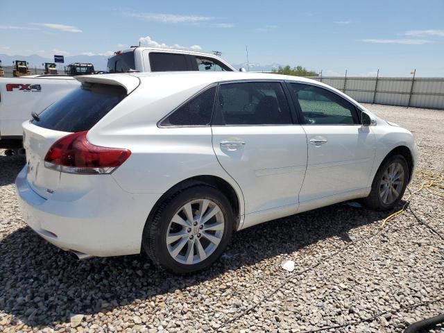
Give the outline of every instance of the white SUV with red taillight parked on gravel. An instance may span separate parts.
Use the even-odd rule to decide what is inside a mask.
[[[24,220],[80,258],[143,248],[176,273],[212,264],[232,231],[343,200],[398,204],[408,130],[345,94],[275,74],[83,76],[24,123]]]

